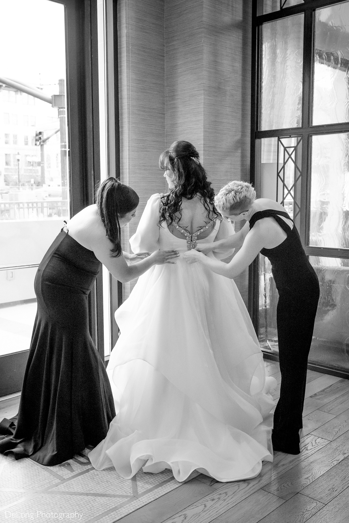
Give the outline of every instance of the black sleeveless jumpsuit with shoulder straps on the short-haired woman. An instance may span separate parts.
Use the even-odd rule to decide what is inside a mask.
[[[272,217],[287,234],[273,249],[262,249],[272,266],[279,294],[276,310],[278,350],[281,371],[280,399],[274,413],[272,434],[274,450],[299,453],[299,429],[307,378],[307,363],[319,301],[319,281],[301,245],[296,226],[291,230],[280,216],[287,212],[274,209],[252,215],[255,222]]]

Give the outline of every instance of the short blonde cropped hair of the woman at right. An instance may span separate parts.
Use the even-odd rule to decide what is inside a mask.
[[[218,211],[240,214],[251,206],[255,196],[255,190],[247,181],[229,181],[215,196],[215,206]]]

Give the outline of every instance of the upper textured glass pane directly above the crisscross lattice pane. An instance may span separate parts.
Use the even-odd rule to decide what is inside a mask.
[[[262,25],[262,130],[301,126],[303,25],[303,13]]]

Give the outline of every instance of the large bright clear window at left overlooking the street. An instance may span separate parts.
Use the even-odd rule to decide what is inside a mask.
[[[34,277],[69,217],[69,191],[64,5],[50,0],[2,2],[0,18],[7,20],[0,32],[0,135],[12,134],[12,140],[0,141],[3,356],[29,348],[36,314]],[[36,45],[40,52],[33,51]],[[59,158],[57,164],[45,162],[50,157]]]

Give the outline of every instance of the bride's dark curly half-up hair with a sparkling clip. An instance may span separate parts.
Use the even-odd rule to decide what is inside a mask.
[[[182,198],[192,200],[198,194],[203,198],[207,217],[212,220],[214,216],[218,216],[219,213],[214,204],[215,192],[211,187],[211,182],[207,180],[205,169],[199,161],[199,153],[194,145],[184,140],[173,142],[169,149],[160,154],[159,167],[162,170],[169,168],[175,175],[173,178],[175,187],[170,189],[166,195],[161,196],[162,209],[159,225],[166,219],[169,219],[170,223],[174,222],[177,212],[181,219]],[[211,212],[212,218],[210,218]]]

